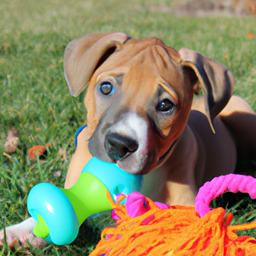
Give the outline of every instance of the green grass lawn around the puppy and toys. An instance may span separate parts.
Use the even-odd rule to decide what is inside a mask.
[[[134,38],[160,37],[175,49],[199,51],[233,71],[237,82],[234,93],[256,110],[256,18],[175,17],[150,12],[151,6],[163,3],[0,1],[0,228],[29,216],[25,205],[33,185],[50,181],[63,186],[75,130],[86,121],[83,95],[70,96],[63,75],[63,51],[75,37],[123,31]],[[254,38],[248,38],[248,32],[254,33]],[[9,159],[3,155],[3,144],[12,126],[19,130],[21,147]],[[27,159],[28,148],[46,143],[50,143],[46,160]],[[68,149],[66,161],[57,156],[60,146]],[[53,176],[57,170],[61,170],[59,178]],[[233,203],[231,211],[235,213],[233,223],[256,217],[255,202],[247,197]],[[72,245],[14,251],[3,247],[0,255],[88,255],[99,239],[102,221],[107,225],[109,216],[99,217],[92,226],[84,225]],[[256,237],[255,230],[245,233]]]

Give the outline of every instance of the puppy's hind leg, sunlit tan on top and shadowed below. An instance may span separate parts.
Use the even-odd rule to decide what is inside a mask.
[[[232,96],[219,113],[237,146],[237,171],[256,170],[256,113],[241,97]]]

